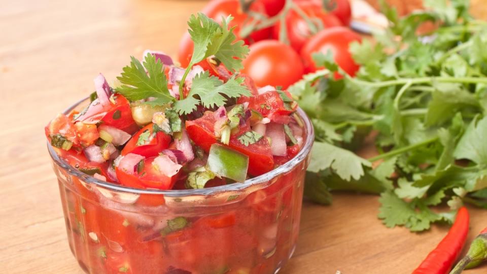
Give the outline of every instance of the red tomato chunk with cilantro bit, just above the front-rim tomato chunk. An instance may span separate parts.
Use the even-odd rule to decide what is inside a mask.
[[[171,136],[162,131],[156,132],[154,136],[153,125],[153,123],[150,123],[135,133],[122,149],[122,155],[134,153],[145,157],[154,157],[159,155],[162,150],[168,148]],[[141,137],[141,135],[143,136]],[[137,143],[140,143],[139,141],[142,141],[139,139],[143,139],[144,136],[147,136],[144,144],[137,145]]]

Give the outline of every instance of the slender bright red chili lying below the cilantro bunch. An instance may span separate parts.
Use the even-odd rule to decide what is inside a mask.
[[[438,246],[428,254],[428,257],[413,274],[445,274],[465,245],[468,233],[469,214],[467,208],[462,207],[457,213],[457,219],[451,226],[448,234],[441,240]]]

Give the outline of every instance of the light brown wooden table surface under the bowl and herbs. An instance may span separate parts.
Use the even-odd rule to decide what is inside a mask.
[[[3,3],[2,3],[3,2]],[[0,1],[0,267],[2,273],[82,273],[66,241],[44,126],[120,74],[145,49],[175,55],[201,1]],[[290,273],[408,273],[448,227],[413,234],[377,220],[377,196],[335,194],[305,203]],[[487,211],[471,208],[471,233]],[[484,273],[487,266],[466,273]]]

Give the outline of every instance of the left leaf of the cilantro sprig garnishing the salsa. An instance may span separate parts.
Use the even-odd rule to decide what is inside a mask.
[[[122,76],[117,77],[122,83],[115,89],[118,93],[132,101],[156,97],[158,102],[164,104],[174,99],[167,89],[163,64],[159,59],[148,53],[142,65],[135,57],[130,58],[130,65],[125,66]]]

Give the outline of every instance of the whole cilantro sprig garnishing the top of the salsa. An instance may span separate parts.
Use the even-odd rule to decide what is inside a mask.
[[[233,76],[223,82],[217,77],[210,76],[207,71],[196,75],[187,97],[183,93],[185,80],[191,68],[205,58],[214,57],[233,73],[242,68],[242,59],[248,54],[249,48],[243,45],[243,41],[236,41],[234,27],[228,27],[231,20],[230,16],[223,18],[220,25],[202,13],[192,15],[189,19],[189,33],[194,42],[194,50],[179,85],[179,100],[169,93],[162,62],[150,53],[145,56],[142,63],[131,57],[130,65],[125,66],[122,75],[117,77],[121,86],[116,88],[116,91],[131,101],[155,97],[145,104],[171,104],[171,108],[180,115],[190,114],[199,105],[216,108],[225,105],[228,98],[250,95],[250,91],[242,85],[241,78]]]

